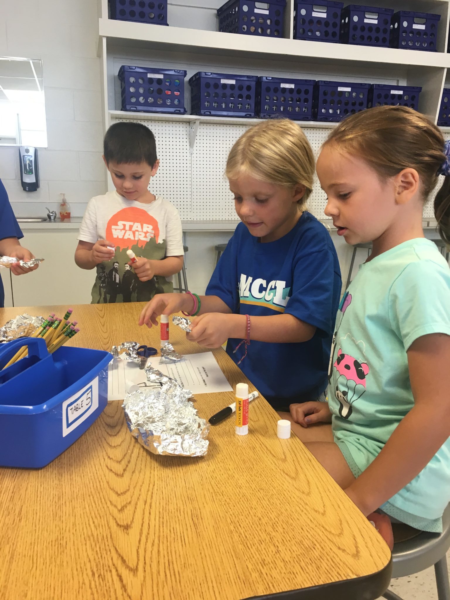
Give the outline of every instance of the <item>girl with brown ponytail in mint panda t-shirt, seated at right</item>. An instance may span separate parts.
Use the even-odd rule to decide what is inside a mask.
[[[450,269],[422,230],[424,202],[446,175],[434,210],[450,242],[449,156],[424,115],[382,106],[342,121],[317,160],[338,235],[373,250],[338,310],[329,405],[290,411],[356,506],[389,515],[370,518],[391,547],[391,521],[440,532],[450,501]],[[305,431],[320,421],[331,428]]]

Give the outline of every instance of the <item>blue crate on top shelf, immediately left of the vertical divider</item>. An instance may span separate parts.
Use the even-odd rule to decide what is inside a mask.
[[[228,34],[283,37],[285,7],[286,0],[229,0],[217,9],[219,31]]]

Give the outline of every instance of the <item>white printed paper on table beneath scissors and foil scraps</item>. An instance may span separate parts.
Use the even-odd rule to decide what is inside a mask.
[[[160,360],[160,356],[151,357],[146,366],[152,365],[161,373],[176,379],[194,395],[233,390],[212,352],[187,354],[184,360],[169,365],[160,365]],[[145,371],[139,368],[139,364],[118,360],[108,368],[108,400],[125,398],[125,382],[134,383],[142,389],[159,388],[159,385],[152,385],[147,381]]]

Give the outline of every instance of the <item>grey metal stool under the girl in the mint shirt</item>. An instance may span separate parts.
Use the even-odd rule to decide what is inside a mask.
[[[438,600],[450,600],[446,551],[450,547],[450,505],[442,515],[442,533],[419,533],[413,539],[399,542],[392,550],[392,577],[407,577],[434,565]],[[391,590],[383,594],[387,600],[402,600]]]

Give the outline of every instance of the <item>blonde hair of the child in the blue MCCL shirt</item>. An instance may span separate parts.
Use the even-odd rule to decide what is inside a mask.
[[[304,210],[313,190],[314,154],[301,127],[289,119],[276,119],[245,131],[228,155],[226,176],[237,179],[244,173],[285,187],[304,185],[298,201]]]

